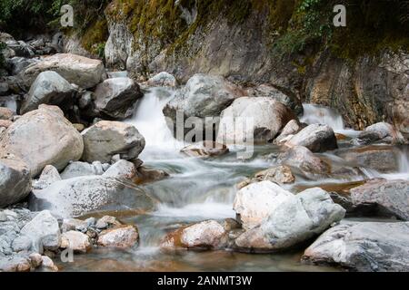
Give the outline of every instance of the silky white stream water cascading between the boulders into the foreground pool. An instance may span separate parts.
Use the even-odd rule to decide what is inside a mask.
[[[158,245],[166,232],[185,224],[205,219],[223,220],[234,218],[233,201],[236,184],[254,172],[274,166],[278,153],[274,145],[254,148],[251,160],[237,160],[236,151],[217,159],[195,159],[182,155],[179,150],[186,144],[176,141],[166,126],[162,109],[174,96],[165,88],[153,88],[145,93],[144,99],[135,111],[135,117],[128,120],[135,125],[146,140],[146,147],[140,155],[145,166],[164,169],[170,177],[144,186],[144,189],[160,202],[156,210],[145,215],[129,212],[115,212],[125,223],[137,225],[140,231],[140,247],[117,250],[98,248],[87,255],[76,255],[74,263],[59,264],[65,271],[335,271],[329,266],[307,266],[300,263],[301,251],[284,254],[243,254],[228,251],[182,251],[164,253]],[[327,123],[335,131],[345,131],[342,118],[324,107],[304,105],[307,123]],[[347,131],[348,132],[348,131]],[[354,134],[354,132],[353,132]],[[408,170],[407,149],[402,151],[400,172]],[[331,153],[322,155],[334,164],[343,163]],[[370,178],[379,173],[363,170],[362,176],[343,179],[311,181],[296,176],[297,182],[286,189],[297,191],[299,186],[314,187],[322,184],[347,183]],[[387,176],[386,178],[395,178]]]

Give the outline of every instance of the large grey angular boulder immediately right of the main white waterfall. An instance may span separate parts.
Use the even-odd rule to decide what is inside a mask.
[[[235,98],[241,96],[244,96],[244,91],[223,77],[198,73],[175,93],[175,98],[165,105],[164,113],[174,123],[177,111],[182,111],[185,118],[218,117]]]

